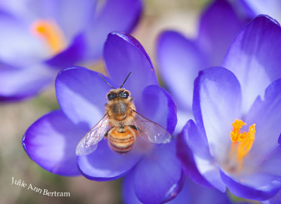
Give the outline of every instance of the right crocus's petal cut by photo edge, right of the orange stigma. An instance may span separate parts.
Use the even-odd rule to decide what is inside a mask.
[[[281,79],[266,88],[265,98],[259,97],[245,118],[248,125],[256,124],[256,136],[246,162],[263,161],[279,146],[281,132]]]

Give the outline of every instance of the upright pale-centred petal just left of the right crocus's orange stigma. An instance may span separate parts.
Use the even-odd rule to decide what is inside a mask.
[[[192,108],[198,131],[207,135],[211,155],[223,161],[230,148],[231,123],[241,116],[241,89],[235,75],[222,67],[201,71]]]

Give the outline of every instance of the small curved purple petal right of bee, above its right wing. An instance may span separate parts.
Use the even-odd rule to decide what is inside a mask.
[[[176,104],[169,93],[156,85],[143,90],[143,102],[140,113],[150,121],[162,125],[172,134],[176,127]],[[137,109],[138,111],[138,109]]]

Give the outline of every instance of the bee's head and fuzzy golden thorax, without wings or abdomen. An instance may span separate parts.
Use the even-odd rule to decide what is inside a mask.
[[[125,88],[116,88],[107,93],[107,104],[105,111],[110,118],[110,124],[113,126],[131,125],[133,119],[133,110],[136,110],[133,104],[131,93]]]

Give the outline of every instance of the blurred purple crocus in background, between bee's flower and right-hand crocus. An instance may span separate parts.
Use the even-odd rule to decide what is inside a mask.
[[[202,13],[196,39],[165,31],[157,43],[157,64],[178,108],[177,132],[192,118],[193,81],[198,72],[221,65],[224,55],[245,24],[228,1],[213,1]]]

